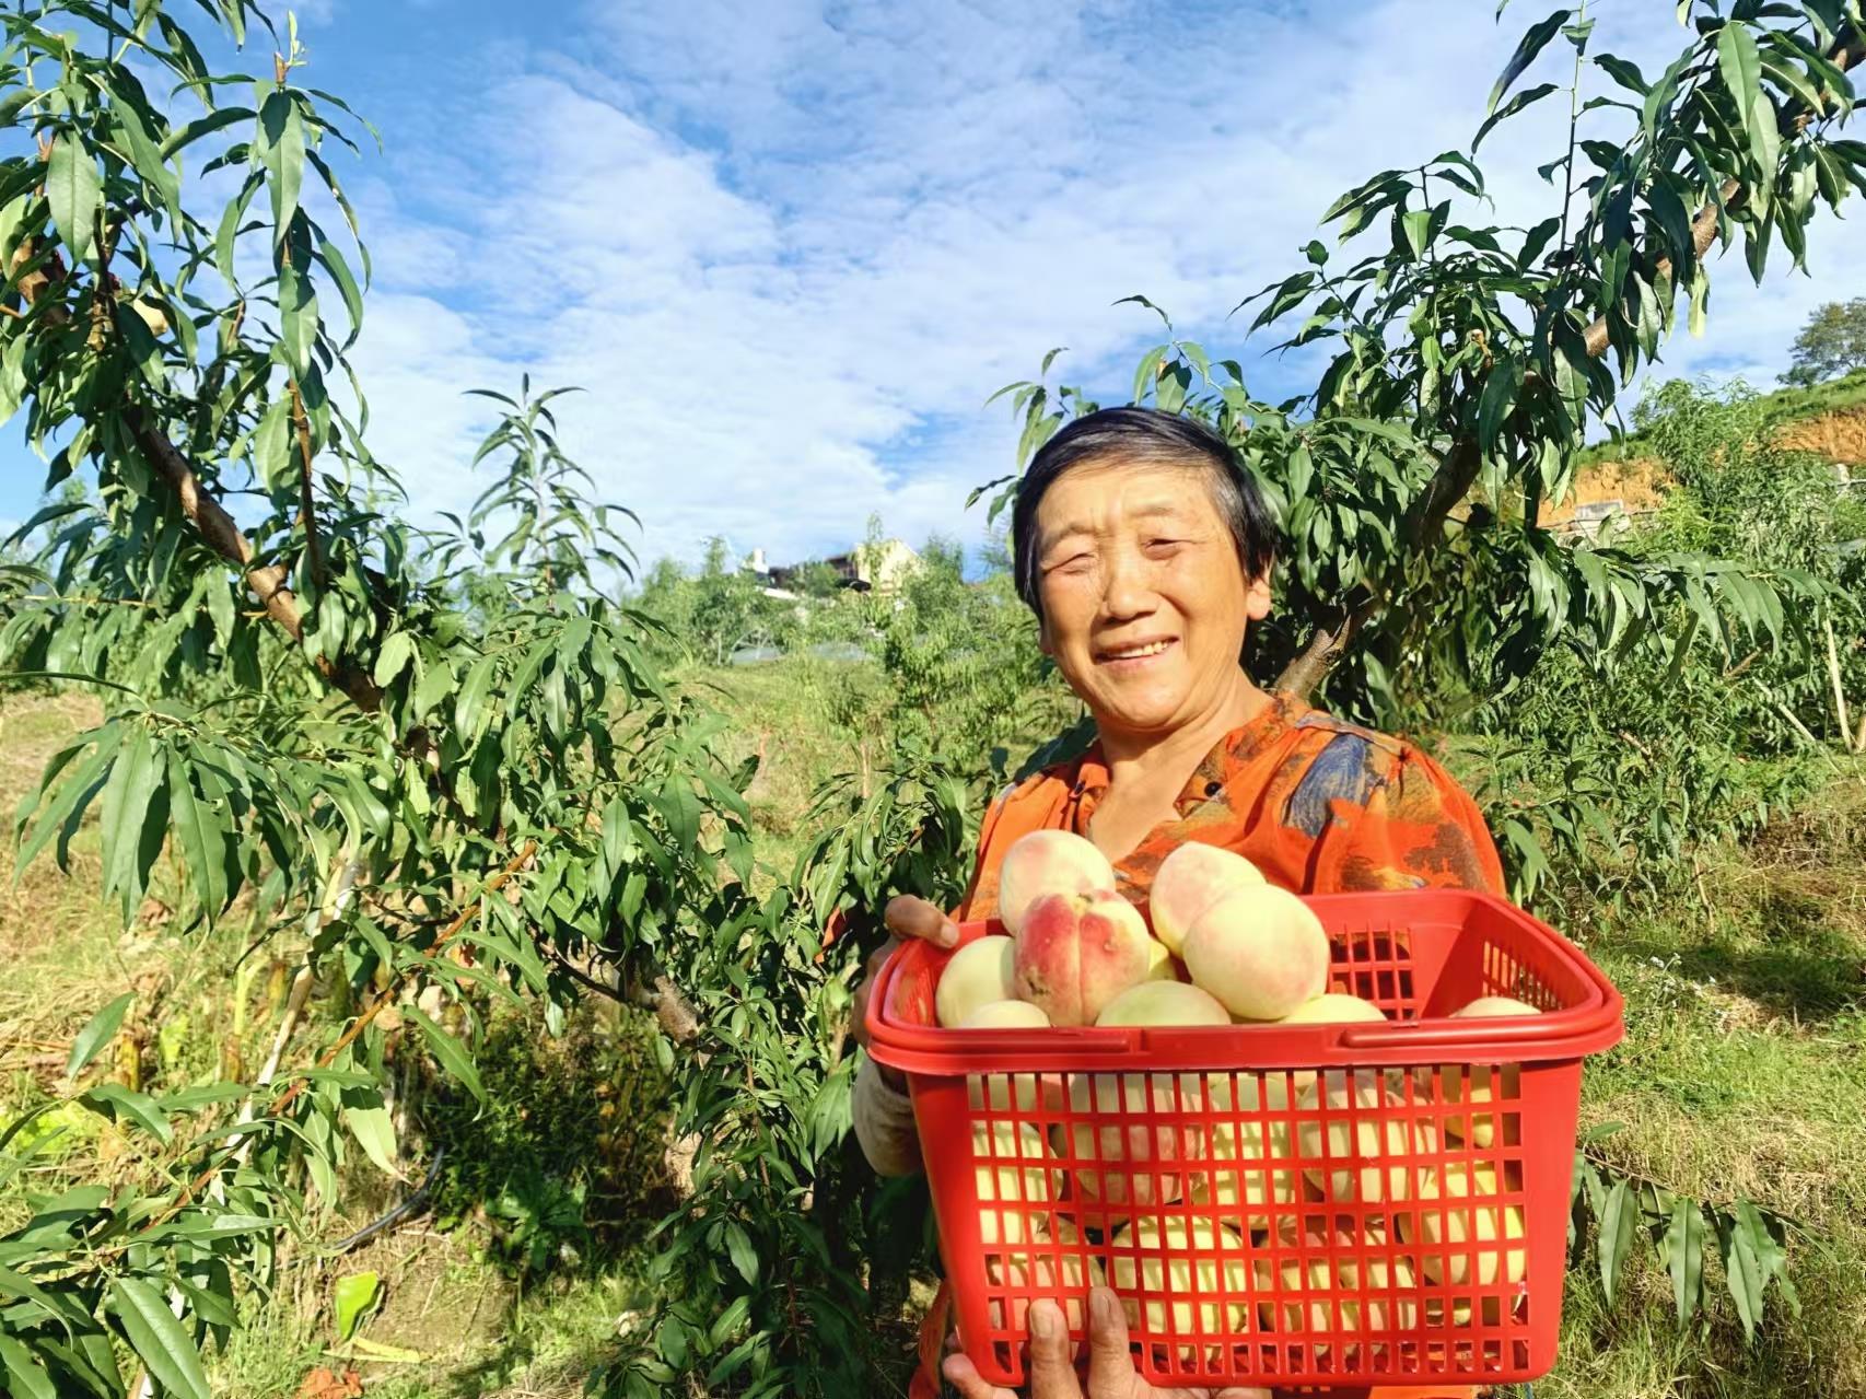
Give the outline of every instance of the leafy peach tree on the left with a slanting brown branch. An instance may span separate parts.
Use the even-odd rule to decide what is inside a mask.
[[[399,507],[347,362],[369,254],[338,168],[371,132],[302,82],[295,26],[250,0],[0,26],[0,418],[50,492],[11,545],[0,657],[103,703],[22,802],[19,862],[67,864],[95,821],[125,918],[166,879],[170,936],[258,927],[297,966],[252,1073],[104,1074],[119,998],[69,1093],[0,1132],[26,1203],[0,1369],[34,1399],[205,1399],[202,1345],[282,1231],[397,1160],[384,1026],[478,1093],[500,998],[677,994],[694,933],[746,901],[748,772],[616,601],[620,519],[554,394],[494,395],[463,517]],[[73,1110],[129,1132],[136,1170],[41,1190],[35,1119]]]

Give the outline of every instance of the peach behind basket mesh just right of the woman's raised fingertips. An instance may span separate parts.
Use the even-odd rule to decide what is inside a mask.
[[[1129,1326],[1142,1324],[1144,1309],[1146,1328],[1153,1336],[1187,1334],[1194,1326],[1207,1336],[1245,1330],[1250,1267],[1243,1257],[1245,1240],[1230,1226],[1213,1227],[1209,1220],[1177,1216],[1157,1220],[1142,1214],[1133,1224],[1118,1227],[1108,1244],[1112,1250],[1108,1280],[1114,1291],[1125,1293],[1121,1302],[1127,1308]],[[1215,1250],[1218,1257],[1189,1257],[1191,1248]],[[1232,1293],[1222,1302],[1213,1296],[1220,1287]],[[1144,1304],[1133,1296],[1140,1291],[1146,1293]]]

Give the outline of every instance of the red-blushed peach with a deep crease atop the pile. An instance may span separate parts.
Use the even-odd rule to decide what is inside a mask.
[[[1051,1024],[1095,1024],[1110,1000],[1146,981],[1148,942],[1140,910],[1112,890],[1045,893],[1017,931],[1017,996]]]

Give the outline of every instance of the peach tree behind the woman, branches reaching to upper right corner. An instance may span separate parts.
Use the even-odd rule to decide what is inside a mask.
[[[1678,21],[1687,45],[1646,75],[1594,50],[1586,0],[1549,13],[1470,151],[1383,170],[1323,213],[1332,237],[1237,306],[1256,308],[1252,332],[1288,328],[1276,351],[1314,347],[1312,392],[1260,401],[1239,360],[1172,334],[1140,360],[1133,401],[1222,427],[1278,515],[1263,683],[1392,714],[1426,677],[1508,688],[1558,644],[1607,666],[1640,645],[1797,640],[1797,604],[1817,604],[1797,571],[1646,558],[1547,526],[1588,429],[1620,431],[1633,375],[1681,325],[1702,330],[1715,254],[1741,241],[1756,280],[1773,252],[1806,269],[1810,229],[1866,190],[1866,142],[1844,136],[1866,50],[1857,4],[1691,0]],[[1483,138],[1549,99],[1569,121],[1539,166],[1543,216],[1482,222]],[[1000,390],[1024,422],[1019,464],[1095,407],[1045,382],[1054,356]],[[996,487],[993,515],[1015,478],[974,492]]]

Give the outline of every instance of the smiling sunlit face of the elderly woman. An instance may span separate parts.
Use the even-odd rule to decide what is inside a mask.
[[[1036,558],[1043,651],[1103,729],[1170,733],[1222,705],[1271,606],[1196,466],[1073,466],[1037,506]]]

